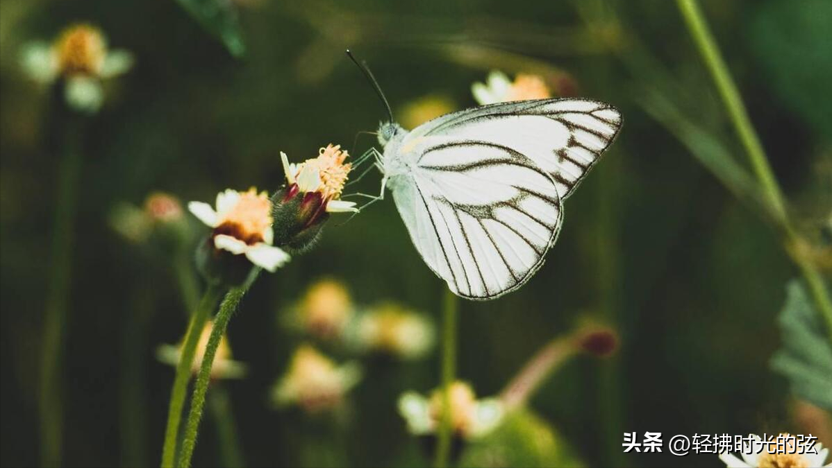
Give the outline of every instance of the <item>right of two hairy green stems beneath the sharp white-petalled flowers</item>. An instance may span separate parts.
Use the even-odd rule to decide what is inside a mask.
[[[191,411],[188,413],[185,436],[182,439],[182,450],[176,466],[186,468],[191,466],[191,457],[194,455],[196,434],[199,431],[200,421],[202,419],[202,407],[205,406],[206,402],[206,393],[208,392],[208,384],[210,383],[210,369],[214,365],[216,348],[220,346],[220,339],[225,335],[225,329],[228,328],[231,315],[234,314],[234,311],[240,304],[240,300],[245,296],[245,292],[248,291],[250,283],[252,281],[245,283],[243,286],[231,288],[225,294],[225,299],[220,304],[220,312],[216,314],[214,328],[211,329],[208,346],[206,347],[204,357],[202,357],[200,373],[196,377],[196,386],[194,387],[194,394],[191,397]]]

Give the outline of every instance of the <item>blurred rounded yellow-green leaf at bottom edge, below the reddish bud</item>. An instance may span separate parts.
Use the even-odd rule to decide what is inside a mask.
[[[493,432],[463,451],[459,466],[583,466],[557,431],[532,411],[506,416]]]

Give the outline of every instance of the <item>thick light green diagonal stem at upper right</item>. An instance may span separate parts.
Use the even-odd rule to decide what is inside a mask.
[[[830,299],[829,290],[826,288],[823,279],[820,277],[815,265],[811,264],[810,260],[803,258],[800,254],[794,254],[791,251],[792,246],[797,244],[800,239],[795,229],[792,228],[788,215],[785,209],[785,201],[780,191],[780,185],[777,185],[774,172],[771,170],[769,161],[765,157],[765,150],[760,144],[760,137],[754,130],[748,118],[748,112],[745,111],[745,105],[742,102],[740,91],[730,76],[728,67],[722,59],[719,47],[716,45],[711,31],[708,28],[705,17],[699,8],[696,0],[676,0],[676,5],[681,11],[682,17],[691,36],[696,42],[696,47],[705,60],[708,70],[711,71],[716,88],[720,93],[723,104],[725,104],[730,120],[733,122],[737,135],[740,137],[742,145],[745,147],[745,152],[748,153],[751,166],[760,181],[762,189],[765,192],[766,200],[770,204],[771,211],[775,215],[775,221],[780,225],[783,231],[783,236],[786,242],[786,250],[792,254],[792,258],[800,268],[800,273],[803,274],[807,283],[810,286],[810,292],[815,299],[815,305],[819,313],[825,319],[829,328],[830,337],[832,337],[832,299]]]

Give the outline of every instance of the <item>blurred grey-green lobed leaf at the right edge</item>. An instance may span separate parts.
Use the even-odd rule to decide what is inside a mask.
[[[798,397],[832,410],[832,344],[803,283],[793,279],[786,291],[778,319],[783,346],[771,368],[789,379]]]

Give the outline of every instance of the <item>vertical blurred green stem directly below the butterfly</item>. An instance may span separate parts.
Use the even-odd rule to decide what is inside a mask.
[[[442,307],[442,421],[439,423],[436,459],[433,466],[448,466],[451,452],[451,385],[457,362],[457,297],[445,288]]]

